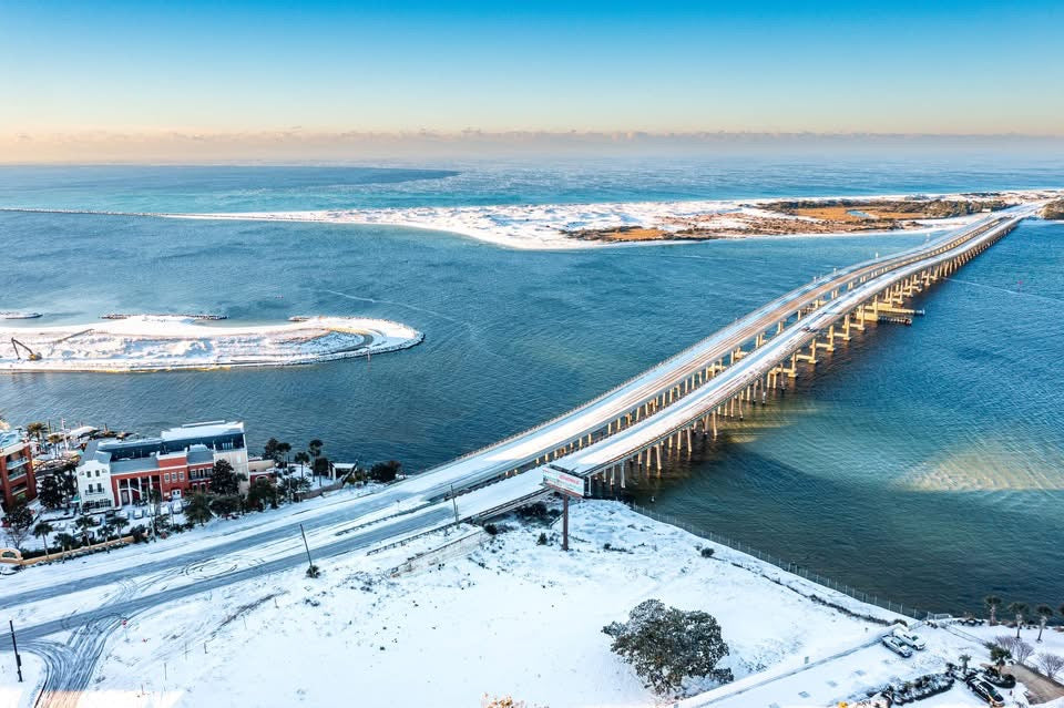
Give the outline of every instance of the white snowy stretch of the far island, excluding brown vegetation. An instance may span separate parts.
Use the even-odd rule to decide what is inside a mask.
[[[1031,201],[1051,191],[1009,192],[1003,196]],[[1054,192],[1055,194],[1055,192]],[[883,198],[904,198],[907,195],[883,195]],[[959,196],[959,195],[923,195]],[[594,248],[607,244],[576,238],[565,232],[582,229],[637,226],[676,230],[685,219],[714,216],[717,228],[749,229],[757,236],[748,219],[741,216],[788,218],[778,212],[759,208],[780,198],[759,199],[703,199],[683,202],[627,202],[605,204],[530,204],[500,206],[423,206],[365,209],[329,209],[306,212],[245,212],[223,214],[162,214],[173,218],[276,220],[276,222],[326,222],[334,224],[386,224],[451,232],[478,240],[520,249],[572,249]],[[841,198],[841,197],[808,197]],[[852,198],[852,197],[850,197]],[[729,215],[736,217],[729,220]],[[960,226],[974,220],[979,215],[958,219],[927,222],[929,228]],[[791,217],[801,219],[801,217]],[[661,243],[661,242],[654,242]],[[616,244],[610,244],[616,245]],[[627,244],[634,245],[634,244]]]

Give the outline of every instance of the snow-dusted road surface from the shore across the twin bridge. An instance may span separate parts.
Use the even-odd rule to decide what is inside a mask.
[[[57,632],[98,625],[102,627],[100,632],[110,632],[115,617],[129,617],[176,598],[298,567],[305,562],[305,556],[298,540],[291,537],[296,522],[304,522],[311,534],[316,558],[328,558],[452,523],[452,504],[444,496],[452,485],[456,490],[472,490],[457,500],[458,515],[462,519],[481,516],[532,499],[542,493],[539,473],[508,476],[490,485],[483,483],[489,479],[499,479],[514,469],[518,462],[542,460],[548,451],[555,450],[561,442],[571,442],[589,434],[587,431],[594,432],[608,424],[614,417],[631,411],[634,406],[645,406],[648,397],[655,393],[662,396],[693,373],[703,371],[703,367],[712,366],[735,348],[755,340],[766,329],[796,318],[799,309],[838,293],[838,297],[829,304],[804,315],[800,326],[785,327],[720,373],[694,387],[683,398],[669,401],[657,412],[587,443],[554,463],[586,476],[617,464],[641,449],[659,444],[663,438],[689,425],[705,411],[734,397],[750,381],[777,366],[782,358],[806,346],[815,336],[811,330],[837,320],[848,309],[873,297],[892,283],[992,243],[1003,230],[1033,212],[1033,207],[1020,207],[999,213],[918,248],[836,271],[831,277],[818,279],[774,300],[565,415],[379,493],[342,500],[335,504],[336,509],[326,507],[314,513],[300,511],[298,514],[301,515],[293,515],[287,521],[278,520],[273,525],[250,520],[248,523],[253,527],[246,533],[237,534],[221,529],[208,531],[206,536],[201,536],[201,542],[190,543],[187,552],[180,546],[167,548],[152,544],[146,548],[133,547],[110,556],[93,556],[73,567],[29,570],[0,582],[0,592],[3,593],[0,595],[0,607],[14,612],[20,606],[27,607],[59,595],[102,586],[124,587],[132,582],[135,587],[115,593],[114,599],[102,606],[93,603],[88,607],[79,607],[74,597],[70,597],[69,614],[61,618],[40,616],[40,622],[23,623],[20,636],[28,642],[40,642]],[[263,529],[256,530],[256,523],[260,523]],[[213,536],[209,535],[212,533]],[[263,554],[267,547],[269,560],[246,561],[249,556]],[[228,567],[219,564],[217,567],[221,570],[216,572],[174,579],[175,572],[180,573],[182,568],[187,570],[197,562],[217,561],[223,556],[243,556],[245,562]],[[70,568],[70,572],[64,572],[64,568]],[[160,577],[165,578],[162,585],[155,579]],[[31,612],[30,616],[37,616],[37,612]],[[0,639],[0,650],[9,647],[7,637]]]

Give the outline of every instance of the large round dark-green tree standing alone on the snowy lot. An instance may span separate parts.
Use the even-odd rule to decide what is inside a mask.
[[[720,625],[704,612],[665,607],[657,599],[635,606],[625,623],[603,627],[613,637],[611,649],[635,668],[655,692],[676,691],[688,677],[713,676],[730,681],[730,669],[716,668],[728,655]]]

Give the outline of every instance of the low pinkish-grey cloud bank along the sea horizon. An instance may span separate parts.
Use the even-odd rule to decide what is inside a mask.
[[[1064,136],[1023,134],[289,130],[0,134],[0,163],[296,163],[771,153],[1007,152],[1064,158]]]

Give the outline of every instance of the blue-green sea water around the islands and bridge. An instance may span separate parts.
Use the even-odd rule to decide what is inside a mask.
[[[978,161],[19,167],[0,170],[0,206],[213,212],[1054,184],[1064,184],[1060,163]],[[419,470],[577,404],[832,267],[920,240],[521,253],[387,227],[0,213],[0,247],[18,260],[0,309],[44,312],[40,324],[106,311],[329,314],[398,319],[427,335],[371,363],[8,376],[0,411],[145,433],[239,418],[255,447],[321,438],[335,459],[397,458]],[[991,591],[1057,604],[1062,266],[1064,226],[1023,225],[927,294],[928,315],[911,328],[839,349],[636,496],[907,604],[960,609]]]

